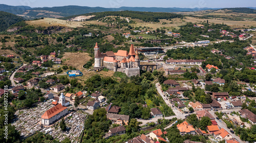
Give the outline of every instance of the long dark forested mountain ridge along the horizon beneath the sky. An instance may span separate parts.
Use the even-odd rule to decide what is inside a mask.
[[[84,13],[106,12],[106,11],[141,11],[141,12],[182,12],[199,10],[217,10],[212,8],[146,8],[146,7],[120,7],[120,8],[102,8],[102,7],[81,7],[81,6],[63,6],[63,7],[43,7],[31,8],[27,6],[8,6],[0,4],[0,11],[5,11],[21,15],[26,19],[41,17],[60,18]]]

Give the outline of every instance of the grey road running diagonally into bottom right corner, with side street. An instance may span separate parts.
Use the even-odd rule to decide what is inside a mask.
[[[240,109],[232,109],[232,110],[223,109],[223,110],[221,110],[221,111],[222,111],[222,112],[229,112],[229,113],[230,113],[231,111],[236,111],[236,110],[240,110]],[[214,113],[213,110],[212,110],[212,111],[209,111],[209,112],[210,112],[211,115],[214,116],[215,118],[217,117],[217,116],[215,115],[215,113]],[[226,125],[225,122],[222,121],[222,123],[221,123],[219,120],[215,120],[215,121],[218,123],[218,125],[219,125],[220,128],[224,128],[229,134],[232,135],[233,138],[236,138],[240,143],[242,143],[242,142],[245,143],[245,141],[242,141],[242,140],[240,139],[240,137],[238,137],[236,134],[232,134],[232,133],[230,132],[230,129],[227,128],[227,125]]]

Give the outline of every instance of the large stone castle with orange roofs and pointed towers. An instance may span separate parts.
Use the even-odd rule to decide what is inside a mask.
[[[138,51],[131,45],[129,53],[125,50],[118,50],[116,53],[107,51],[102,53],[98,43],[94,47],[94,69],[105,67],[114,72],[125,73],[128,77],[140,75],[140,59]]]

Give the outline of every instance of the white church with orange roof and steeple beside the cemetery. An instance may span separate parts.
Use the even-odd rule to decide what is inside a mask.
[[[66,105],[65,96],[63,96],[63,93],[61,93],[59,97],[58,104],[48,109],[44,115],[41,116],[41,125],[48,126],[67,115],[68,108],[62,105]]]

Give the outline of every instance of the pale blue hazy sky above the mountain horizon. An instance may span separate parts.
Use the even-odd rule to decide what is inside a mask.
[[[256,7],[255,0],[1,0],[0,4],[29,7],[161,7],[161,8],[237,8]]]

